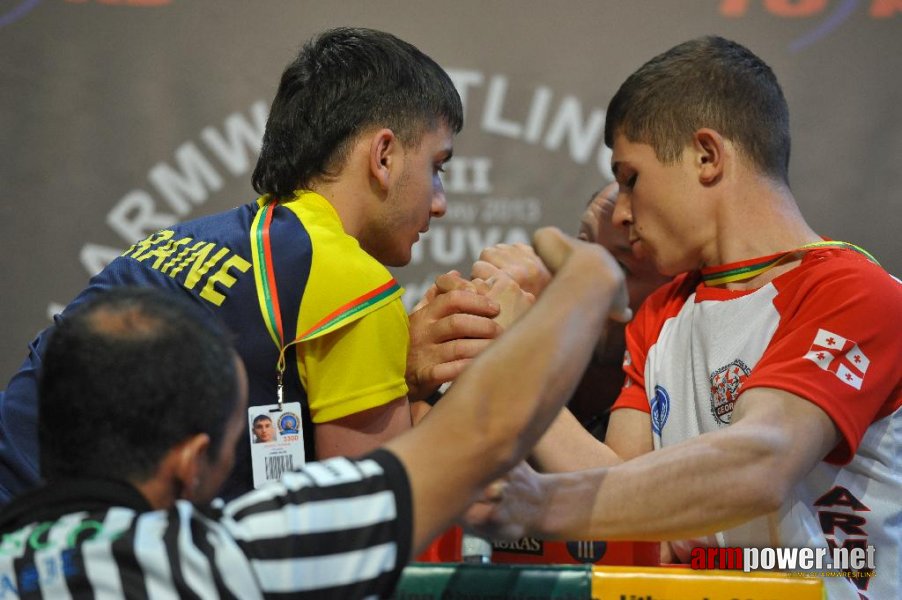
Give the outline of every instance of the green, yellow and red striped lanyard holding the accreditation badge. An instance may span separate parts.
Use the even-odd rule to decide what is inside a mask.
[[[258,279],[260,286],[260,293],[258,294],[260,311],[263,315],[266,329],[269,331],[270,337],[279,349],[279,360],[276,363],[276,396],[279,400],[279,406],[281,407],[285,375],[285,351],[294,344],[309,340],[320,334],[322,331],[334,327],[339,322],[352,317],[361,310],[398,292],[400,290],[400,285],[394,278],[389,279],[386,283],[380,285],[376,289],[367,292],[363,296],[352,300],[329,313],[307,331],[297,336],[294,340],[285,343],[282,328],[282,310],[279,307],[279,293],[278,288],[276,287],[276,274],[272,259],[272,243],[269,235],[270,224],[272,223],[273,213],[275,212],[277,204],[278,200],[269,200],[259,211],[257,211],[257,215],[254,217],[254,221],[251,224],[251,231],[254,262],[258,265],[260,270]]]

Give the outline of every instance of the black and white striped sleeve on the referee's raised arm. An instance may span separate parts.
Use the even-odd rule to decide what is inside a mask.
[[[380,596],[410,556],[410,486],[385,450],[334,458],[230,502],[222,524],[267,597]]]

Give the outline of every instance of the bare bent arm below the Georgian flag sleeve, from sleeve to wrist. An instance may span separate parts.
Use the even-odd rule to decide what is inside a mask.
[[[543,476],[536,533],[663,540],[710,534],[776,510],[839,440],[815,405],[754,389],[734,423],[596,471]]]

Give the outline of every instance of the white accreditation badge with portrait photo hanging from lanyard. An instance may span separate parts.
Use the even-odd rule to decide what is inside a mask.
[[[275,481],[304,465],[304,429],[300,402],[247,409],[254,487]]]

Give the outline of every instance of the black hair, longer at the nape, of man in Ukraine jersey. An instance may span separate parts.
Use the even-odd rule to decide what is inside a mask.
[[[431,58],[395,36],[337,28],[307,42],[282,73],[252,182],[277,197],[340,168],[350,142],[388,127],[416,146],[440,125],[463,126],[460,96]]]

